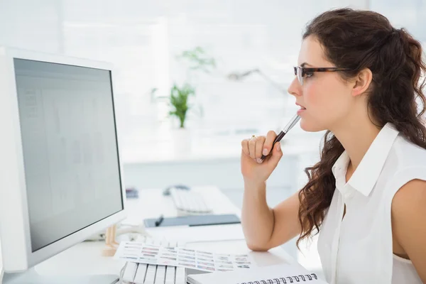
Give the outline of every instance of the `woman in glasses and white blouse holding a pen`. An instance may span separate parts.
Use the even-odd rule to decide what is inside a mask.
[[[249,248],[267,251],[299,235],[298,245],[320,231],[328,283],[426,283],[420,43],[378,13],[352,9],[322,13],[302,39],[288,92],[302,129],[327,130],[320,162],[305,170],[305,187],[270,209],[266,180],[280,143],[271,149],[273,131],[242,141]]]

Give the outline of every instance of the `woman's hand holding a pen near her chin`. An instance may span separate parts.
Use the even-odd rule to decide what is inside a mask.
[[[272,143],[277,134],[275,131],[268,131],[266,136],[252,137],[241,141],[241,173],[244,182],[260,184],[268,180],[275,170],[278,162],[283,156],[280,143]],[[261,160],[262,155],[268,155],[272,150],[272,155]]]

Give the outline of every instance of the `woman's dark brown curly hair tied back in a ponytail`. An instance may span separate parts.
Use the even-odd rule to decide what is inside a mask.
[[[339,72],[348,80],[368,68],[373,80],[368,88],[370,120],[383,127],[390,122],[409,141],[426,148],[426,129],[422,124],[425,72],[422,46],[405,29],[395,29],[385,16],[373,11],[334,9],[307,24],[302,38],[314,37],[324,55],[335,66],[348,68]],[[421,101],[421,105],[417,104]],[[344,152],[342,143],[331,131],[324,135],[320,161],[306,168],[308,182],[299,192],[298,212],[302,239],[318,234],[324,215],[332,202],[336,180],[332,166]],[[316,230],[316,231],[314,231]]]

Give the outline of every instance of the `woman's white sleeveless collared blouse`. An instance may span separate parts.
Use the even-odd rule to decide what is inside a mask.
[[[391,204],[405,183],[426,180],[426,150],[386,124],[346,183],[348,165],[345,151],[332,168],[336,190],[318,239],[327,282],[421,284],[413,263],[393,254]]]

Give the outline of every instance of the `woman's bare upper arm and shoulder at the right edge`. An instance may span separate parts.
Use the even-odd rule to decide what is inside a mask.
[[[426,283],[426,181],[411,180],[396,192],[392,231],[394,248],[403,249]]]

